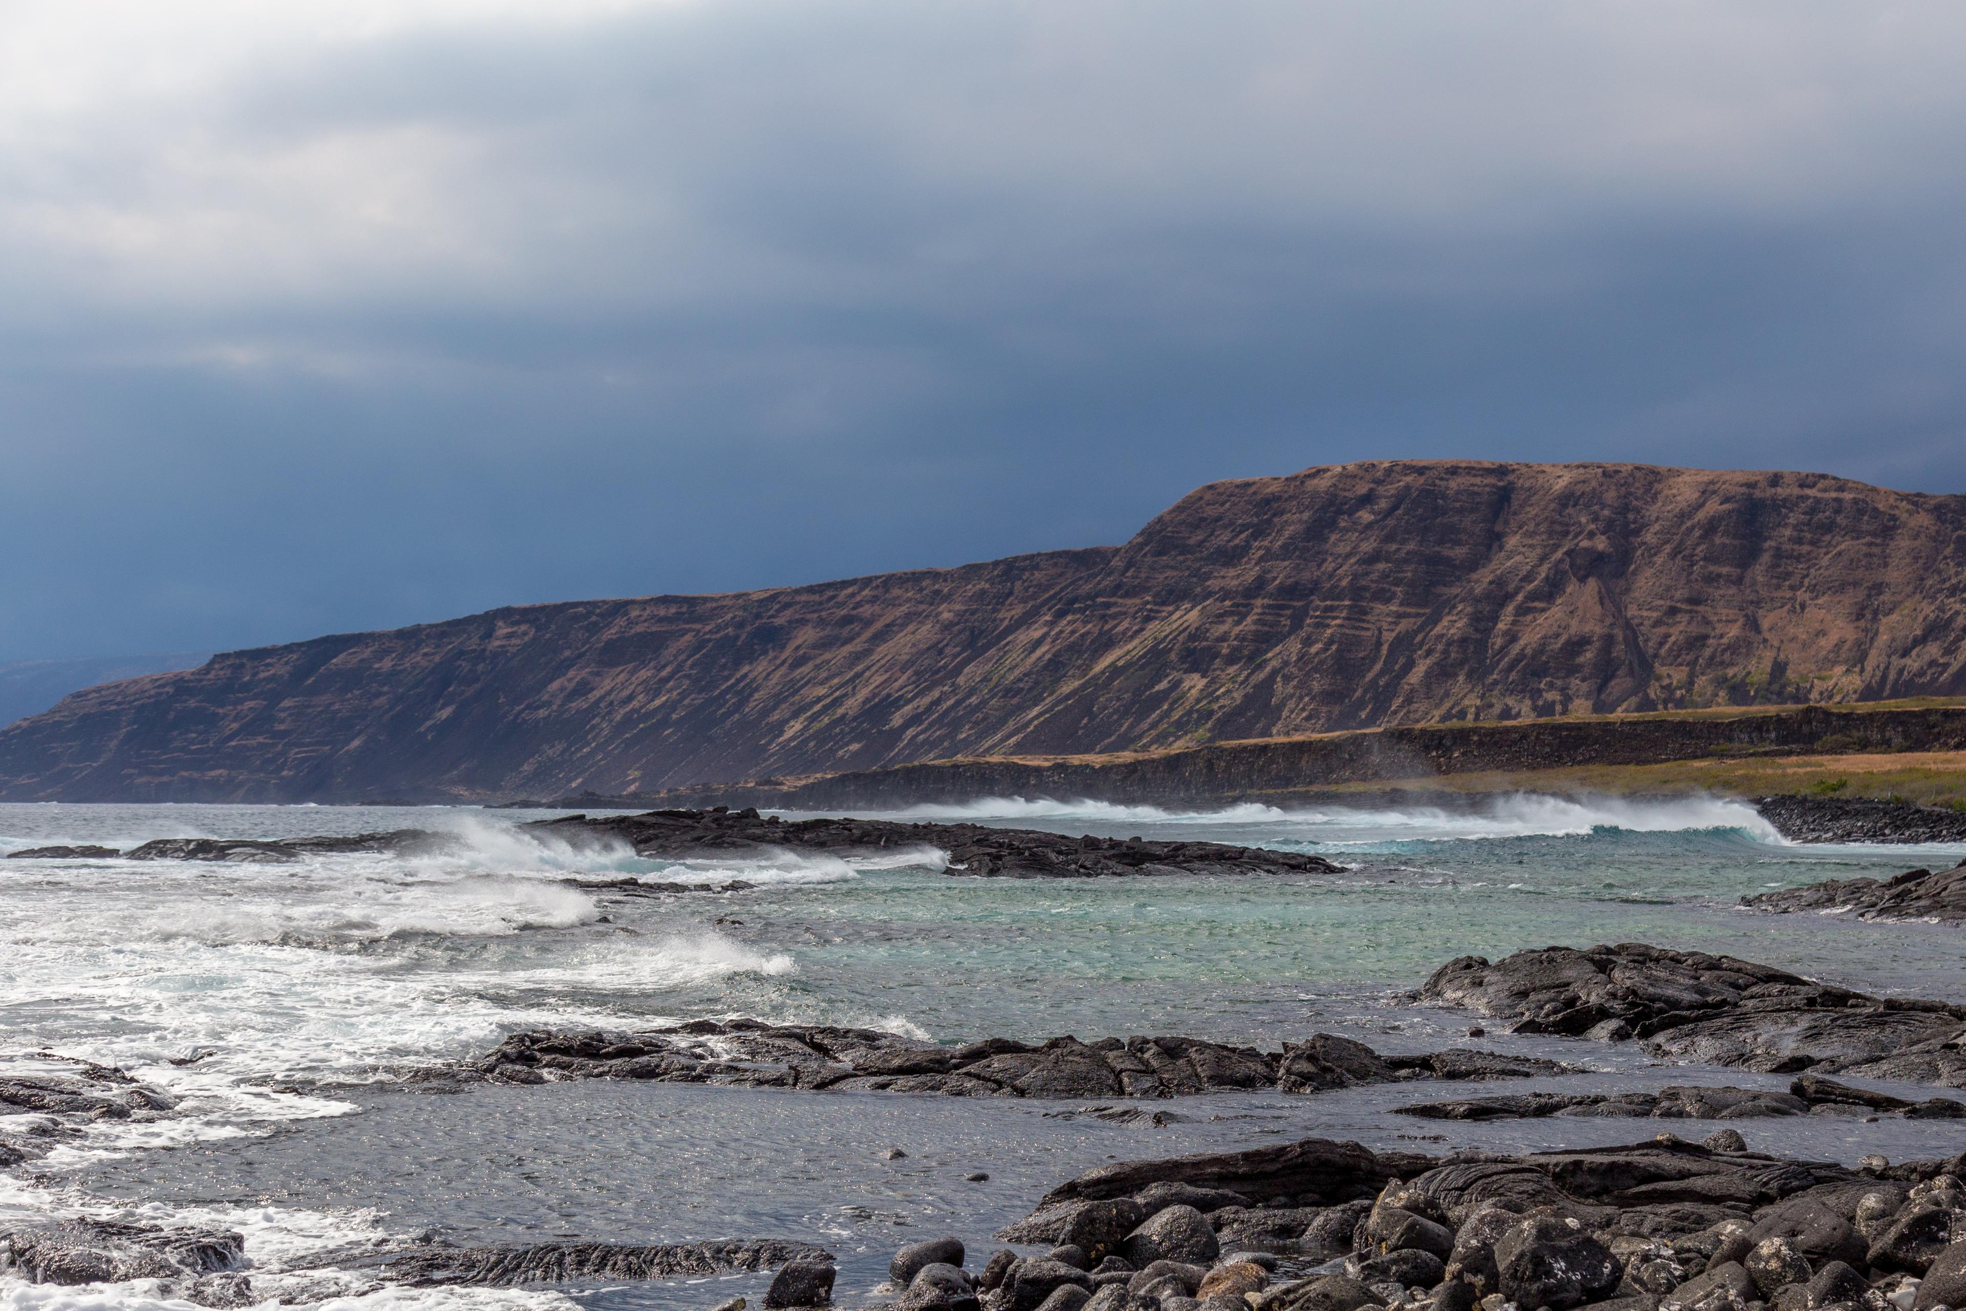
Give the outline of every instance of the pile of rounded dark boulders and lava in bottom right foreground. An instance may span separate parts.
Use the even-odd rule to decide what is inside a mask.
[[[1722,1134],[1720,1138],[1726,1138]],[[902,1311],[1933,1311],[1966,1303],[1966,1158],[1864,1169],[1661,1134],[1447,1160],[1309,1138],[1123,1162],[1048,1193]],[[963,1244],[916,1244],[896,1278]],[[1075,1289],[1060,1293],[1060,1289]],[[1048,1299],[1060,1301],[1050,1303]]]

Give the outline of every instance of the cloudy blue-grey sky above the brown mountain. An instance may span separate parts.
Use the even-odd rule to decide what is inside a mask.
[[[0,660],[1359,458],[1962,493],[1962,159],[1952,0],[4,0]]]

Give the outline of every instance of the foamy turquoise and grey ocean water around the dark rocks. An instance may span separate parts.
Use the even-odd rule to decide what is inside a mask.
[[[1785,1087],[1785,1077],[1657,1065],[1632,1046],[1471,1040],[1469,1014],[1412,997],[1457,955],[1551,943],[1726,951],[1872,993],[1966,1002],[1958,930],[1736,904],[1777,886],[1952,865],[1966,847],[1793,845],[1726,800],[1520,796],[1476,816],[981,800],[898,816],[1199,837],[1313,851],[1345,867],[1101,881],[971,879],[944,873],[932,849],[680,865],[576,853],[519,831],[547,814],[564,812],[0,806],[0,855],[391,827],[464,839],[442,857],[297,865],[0,861],[0,1075],[79,1057],[177,1103],[157,1116],[90,1120],[8,1168],[0,1230],[65,1215],[218,1225],[246,1234],[256,1295],[433,1309],[712,1307],[739,1293],[755,1301],[769,1276],[409,1289],[315,1266],[348,1244],[407,1236],[800,1238],[839,1256],[836,1299],[857,1305],[902,1242],[954,1232],[987,1254],[995,1228],[1107,1160],[1311,1134],[1526,1150],[1630,1142],[1657,1122],[1388,1114],[1453,1085],[1180,1099],[1148,1105],[1166,1122],[1119,1124],[1071,1103],[639,1083],[433,1093],[401,1075],[527,1028],[755,1016],[946,1044],[1187,1034],[1274,1048],[1333,1032],[1382,1052],[1484,1046],[1592,1071],[1510,1091]],[[627,875],[753,886],[645,898],[564,883]],[[45,1122],[0,1114],[0,1140]],[[1966,1126],[1942,1120],[1734,1126],[1750,1146],[1821,1160],[1966,1148]],[[149,1282],[55,1287],[0,1272],[0,1305],[167,1303]]]

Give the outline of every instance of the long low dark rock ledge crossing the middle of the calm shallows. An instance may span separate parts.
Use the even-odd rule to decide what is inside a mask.
[[[1182,1097],[1244,1089],[1321,1093],[1404,1079],[1522,1079],[1565,1065],[1496,1052],[1380,1055],[1317,1034],[1282,1052],[1199,1038],[987,1038],[938,1048],[865,1028],[692,1020],[639,1034],[513,1034],[460,1073],[501,1083],[647,1079],[950,1097]],[[454,1077],[427,1071],[425,1079]]]

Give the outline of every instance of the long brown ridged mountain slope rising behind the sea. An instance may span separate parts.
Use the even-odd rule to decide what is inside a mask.
[[[1911,696],[1966,696],[1966,497],[1821,474],[1364,462],[1205,485],[1125,546],[228,653],[0,731],[0,800],[647,796]],[[1404,755],[1416,741],[1449,739],[1384,735],[1372,776],[1439,769]]]

